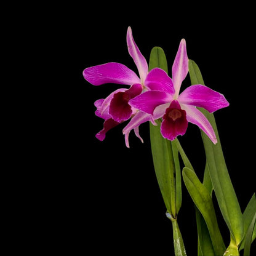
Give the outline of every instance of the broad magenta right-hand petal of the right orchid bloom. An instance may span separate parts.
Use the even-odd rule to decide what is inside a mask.
[[[223,94],[201,84],[183,90],[178,96],[178,101],[183,104],[200,106],[210,113],[230,105]]]

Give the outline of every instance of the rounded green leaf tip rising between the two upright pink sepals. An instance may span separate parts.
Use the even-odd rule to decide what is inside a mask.
[[[162,70],[168,73],[166,55],[164,54],[164,50],[158,46],[154,47],[150,53],[149,70],[153,68],[162,68]]]

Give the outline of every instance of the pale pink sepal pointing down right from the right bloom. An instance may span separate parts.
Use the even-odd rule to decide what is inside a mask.
[[[210,140],[212,140],[212,142],[216,144],[217,138],[214,129],[212,128],[212,125],[204,116],[204,114],[202,114],[202,112],[194,106],[185,104],[182,104],[181,106],[186,111],[186,119],[188,119],[188,122],[196,124],[200,129],[202,129],[206,133]]]

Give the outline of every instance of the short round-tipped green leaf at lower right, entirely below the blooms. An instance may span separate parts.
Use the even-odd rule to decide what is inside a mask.
[[[215,215],[212,198],[204,185],[200,182],[193,170],[188,167],[183,168],[183,180],[196,207],[201,212],[209,230],[210,239],[215,255],[223,255],[225,244],[218,229],[217,217]]]

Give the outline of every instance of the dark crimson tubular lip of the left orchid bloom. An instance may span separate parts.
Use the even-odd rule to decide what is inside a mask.
[[[132,116],[132,106],[129,105],[129,100],[142,92],[141,84],[134,84],[130,89],[124,92],[118,92],[113,95],[110,102],[109,113],[115,121],[126,121]]]

